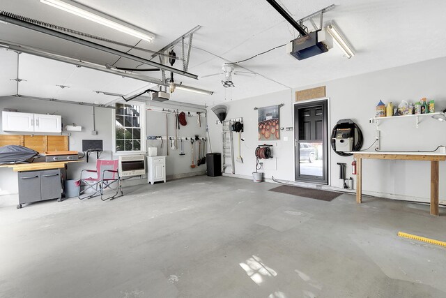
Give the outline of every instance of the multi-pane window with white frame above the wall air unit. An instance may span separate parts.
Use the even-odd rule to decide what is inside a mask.
[[[116,103],[114,112],[114,151],[144,151],[144,103]]]

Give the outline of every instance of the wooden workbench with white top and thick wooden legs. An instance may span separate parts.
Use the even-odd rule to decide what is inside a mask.
[[[439,161],[446,161],[446,154],[414,152],[352,152],[356,158],[356,202],[362,202],[362,159],[387,159],[431,162],[431,215],[438,216]]]

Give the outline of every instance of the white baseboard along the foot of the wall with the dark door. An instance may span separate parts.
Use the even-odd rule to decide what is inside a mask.
[[[233,177],[233,178],[252,180],[252,176],[247,176],[247,175],[228,174],[228,173],[223,173],[222,175],[225,177]],[[276,181],[273,181],[272,179],[265,178],[265,177],[263,177],[263,181],[279,184]],[[319,184],[297,182],[297,181],[286,181],[286,180],[281,180],[281,181],[283,181],[285,184],[291,184],[294,186],[300,186],[300,187],[305,187],[305,188],[315,188],[315,189],[321,189],[323,191],[340,191],[342,193],[351,193],[353,195],[356,194],[355,189],[345,189],[345,188],[339,188],[339,187],[335,187],[335,186],[319,185]],[[254,183],[254,181],[253,181],[253,183]],[[420,203],[430,203],[431,202],[430,198],[411,197],[408,195],[397,195],[397,194],[392,194],[392,193],[380,193],[377,191],[362,191],[362,195],[369,195],[371,197],[385,198],[385,199],[391,199],[391,200],[415,201],[415,202],[420,202]],[[446,204],[446,200],[438,200],[438,201],[440,202],[440,204]]]

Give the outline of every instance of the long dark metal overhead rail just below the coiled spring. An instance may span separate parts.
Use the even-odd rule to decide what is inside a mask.
[[[141,57],[134,56],[132,54],[128,54],[126,52],[121,52],[121,51],[115,50],[112,47],[106,47],[105,45],[100,45],[98,43],[93,43],[93,42],[91,42],[89,40],[84,40],[82,38],[77,38],[75,36],[70,36],[69,34],[66,34],[66,33],[63,33],[63,32],[59,32],[59,31],[56,31],[56,30],[53,30],[53,29],[49,29],[49,28],[45,28],[45,27],[42,27],[42,26],[38,26],[36,24],[32,24],[32,23],[29,23],[29,22],[24,22],[22,20],[18,20],[16,18],[14,18],[14,17],[8,17],[7,15],[0,14],[0,20],[3,21],[3,22],[7,22],[9,24],[15,24],[15,25],[17,25],[19,27],[24,27],[26,29],[30,29],[30,30],[33,30],[33,31],[44,33],[44,34],[47,34],[47,35],[50,35],[50,36],[54,36],[54,37],[57,37],[57,38],[61,38],[63,40],[68,40],[68,41],[70,41],[72,43],[77,43],[79,45],[84,45],[86,47],[91,47],[91,48],[93,48],[95,50],[100,50],[102,52],[107,52],[109,54],[114,54],[114,55],[117,55],[117,56],[120,56],[120,57],[123,57],[123,58],[126,58],[126,59],[137,61],[137,62],[142,63],[142,64],[148,64],[150,66],[154,66],[154,67],[161,68],[161,69],[164,69],[164,70],[167,70],[167,71],[171,71],[172,73],[176,73],[178,75],[184,75],[185,77],[192,77],[192,79],[198,80],[198,76],[194,75],[192,73],[187,73],[187,72],[185,72],[183,70],[179,70],[179,69],[176,69],[176,68],[173,68],[173,67],[170,67],[170,66],[164,66],[162,64],[158,64],[158,63],[153,62],[153,61],[148,60],[148,59],[144,59],[144,58],[141,58]]]

